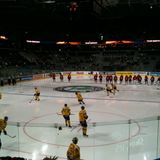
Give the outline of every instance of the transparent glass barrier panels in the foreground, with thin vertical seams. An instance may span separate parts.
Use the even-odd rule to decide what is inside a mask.
[[[69,129],[60,123],[10,122],[7,132],[8,136],[1,135],[1,156],[40,160],[56,155],[64,160],[76,136],[81,158],[85,160],[154,160],[160,157],[159,116],[114,122],[90,123],[88,120],[88,138],[81,135],[77,124]]]

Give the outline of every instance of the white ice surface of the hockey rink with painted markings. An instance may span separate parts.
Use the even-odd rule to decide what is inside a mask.
[[[157,158],[160,155],[158,86],[118,84],[120,91],[107,96],[103,90],[105,83],[104,80],[95,83],[92,77],[73,77],[71,82],[67,79],[53,82],[49,78],[1,87],[0,117],[9,117],[6,130],[16,137],[1,135],[0,156],[40,160],[56,155],[58,160],[65,160],[67,148],[76,136],[83,160]],[[41,91],[40,101],[31,101],[35,86]],[[91,92],[83,92],[86,86]],[[61,91],[61,87],[66,90]],[[102,90],[97,91],[96,87]],[[82,91],[86,103],[89,137],[82,136],[78,125],[81,105],[74,89]],[[65,103],[74,114],[71,115],[72,128],[65,127],[62,115],[57,114]]]

